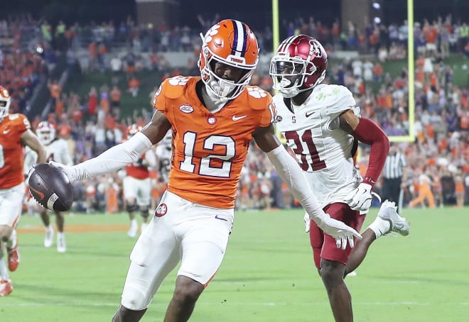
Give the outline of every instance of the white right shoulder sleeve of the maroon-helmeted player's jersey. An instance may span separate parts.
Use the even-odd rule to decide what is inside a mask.
[[[345,86],[329,85],[326,92],[321,94],[325,96],[325,113],[331,119],[337,118],[341,113],[349,109],[352,109],[355,115],[360,113],[360,108],[357,108],[357,102],[353,98],[352,92]]]

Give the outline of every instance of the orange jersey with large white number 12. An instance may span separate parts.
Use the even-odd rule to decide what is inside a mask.
[[[211,113],[195,91],[199,81],[200,77],[166,79],[153,99],[173,130],[168,190],[197,204],[232,209],[252,133],[271,124],[274,104],[269,93],[247,86]]]

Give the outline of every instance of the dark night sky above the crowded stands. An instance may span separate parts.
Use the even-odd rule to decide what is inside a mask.
[[[316,21],[330,25],[340,17],[341,1],[353,0],[279,0],[280,18],[289,21],[293,18],[313,16]],[[179,0],[180,26],[199,27],[197,15],[212,19],[216,13],[220,18],[237,18],[254,28],[271,26],[270,0]],[[407,14],[406,0],[383,0],[384,23],[402,23]],[[128,16],[136,17],[134,0],[14,0],[2,6],[2,17],[31,13],[34,18],[47,18],[55,24],[89,23],[90,21],[124,21]],[[414,0],[414,19],[434,19],[451,13],[453,22],[469,21],[469,0]],[[0,18],[0,19],[1,19]]]

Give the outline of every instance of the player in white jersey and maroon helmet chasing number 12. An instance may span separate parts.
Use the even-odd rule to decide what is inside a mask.
[[[387,157],[389,139],[377,124],[360,116],[360,108],[346,87],[320,84],[327,63],[323,46],[308,35],[293,35],[279,45],[269,69],[274,89],[279,91],[274,96],[276,124],[320,206],[332,218],[360,231]],[[371,145],[365,178],[353,161],[358,141]],[[362,233],[363,239],[357,241],[355,249],[345,250],[335,247],[335,240],[309,217],[305,223],[335,321],[353,321],[344,277],[365,259],[374,240],[390,231],[408,235],[409,223],[397,214],[394,203],[384,201],[377,218]]]

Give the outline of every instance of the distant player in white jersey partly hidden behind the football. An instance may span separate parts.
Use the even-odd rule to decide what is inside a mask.
[[[72,157],[68,151],[68,144],[63,138],[55,137],[55,125],[53,123],[42,121],[38,124],[36,129],[41,143],[45,145],[45,150],[47,150],[47,160],[60,162],[65,165],[73,165]],[[43,206],[39,206],[38,210],[41,215],[41,220],[45,226],[45,238],[44,238],[44,247],[50,248],[53,244],[54,230],[50,226],[50,216],[48,209],[45,209]],[[55,224],[57,225],[57,251],[66,252],[67,245],[65,244],[65,218],[63,213],[60,211],[54,211],[55,213]]]

